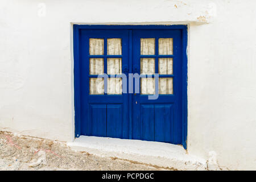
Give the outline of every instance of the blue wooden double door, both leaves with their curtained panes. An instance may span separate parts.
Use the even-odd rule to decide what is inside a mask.
[[[79,77],[79,81],[75,79],[75,97],[79,98],[75,100],[79,110],[77,136],[185,146],[181,108],[182,31],[143,26],[142,29],[103,27],[80,28],[75,34],[74,55],[79,60],[75,62],[75,76]],[[140,75],[139,88],[135,82],[131,84],[129,73]],[[127,93],[130,85],[132,93]],[[148,99],[157,93],[157,99]]]

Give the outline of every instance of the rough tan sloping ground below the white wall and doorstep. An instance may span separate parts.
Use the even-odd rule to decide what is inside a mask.
[[[65,142],[0,131],[1,170],[168,170],[71,150]]]

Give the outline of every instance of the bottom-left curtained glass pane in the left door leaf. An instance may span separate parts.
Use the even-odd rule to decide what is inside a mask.
[[[90,78],[90,94],[104,94],[104,78]]]

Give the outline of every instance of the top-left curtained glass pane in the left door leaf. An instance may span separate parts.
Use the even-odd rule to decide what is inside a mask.
[[[104,39],[90,39],[89,42],[90,55],[104,55]]]

